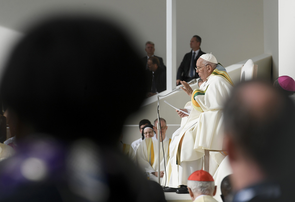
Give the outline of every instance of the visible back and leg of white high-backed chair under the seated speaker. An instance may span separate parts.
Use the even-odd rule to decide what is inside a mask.
[[[258,65],[254,65],[253,61],[249,59],[241,68],[241,82],[250,81],[257,78]],[[209,152],[226,152],[226,150],[205,150],[204,155],[204,170],[209,172]]]

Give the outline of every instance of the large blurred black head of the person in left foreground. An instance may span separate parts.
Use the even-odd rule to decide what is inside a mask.
[[[112,143],[143,101],[141,66],[127,35],[112,23],[56,17],[30,29],[17,44],[0,95],[17,115],[19,137],[38,132]],[[132,89],[120,87],[122,81]],[[112,134],[103,133],[109,129]]]

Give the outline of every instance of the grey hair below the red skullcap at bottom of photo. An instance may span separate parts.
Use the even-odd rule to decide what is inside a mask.
[[[215,189],[214,181],[203,182],[203,181],[195,181],[195,180],[187,180],[187,186],[191,189],[191,191],[195,194],[204,194],[213,196],[213,192]]]

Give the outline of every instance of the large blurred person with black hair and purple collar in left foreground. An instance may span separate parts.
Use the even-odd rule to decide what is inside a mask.
[[[157,188],[165,200],[111,147],[144,99],[138,58],[105,20],[56,17],[28,30],[0,86],[20,143],[0,164],[1,201],[157,201]]]

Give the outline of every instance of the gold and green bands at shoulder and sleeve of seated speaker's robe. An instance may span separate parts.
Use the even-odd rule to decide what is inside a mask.
[[[220,77],[224,78],[225,81],[230,83],[230,85],[232,85],[232,86],[234,85],[232,83],[232,80],[230,79],[230,76],[227,74],[226,69],[220,63],[217,64],[217,67],[213,70],[213,72],[211,73],[210,76],[220,76]],[[208,86],[207,86],[207,88],[208,88]],[[204,112],[204,111],[200,107],[199,103],[195,100],[195,97],[198,95],[205,95],[207,88],[205,90],[200,90],[197,88],[193,91],[192,96],[191,96],[191,102],[192,102],[194,108],[200,112]]]

